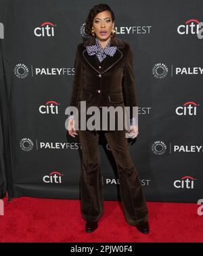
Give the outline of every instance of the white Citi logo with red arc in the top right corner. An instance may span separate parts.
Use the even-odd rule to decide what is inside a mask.
[[[188,34],[196,35],[199,33],[199,30],[200,30],[199,24],[200,24],[199,20],[195,20],[195,19],[187,20],[185,24],[179,25],[177,27],[177,33],[179,33],[180,35],[188,35]]]

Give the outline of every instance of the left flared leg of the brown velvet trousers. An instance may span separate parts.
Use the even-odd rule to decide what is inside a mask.
[[[104,192],[98,156],[99,135],[96,131],[78,130],[82,147],[81,215],[85,221],[98,221],[104,213]]]

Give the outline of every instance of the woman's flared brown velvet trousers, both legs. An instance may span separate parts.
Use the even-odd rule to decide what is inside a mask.
[[[119,189],[125,219],[129,225],[148,221],[148,206],[145,202],[139,174],[129,152],[125,130],[105,131],[118,170]],[[99,134],[90,130],[78,130],[82,147],[81,163],[81,213],[85,221],[99,221],[104,213],[104,194],[98,158]]]

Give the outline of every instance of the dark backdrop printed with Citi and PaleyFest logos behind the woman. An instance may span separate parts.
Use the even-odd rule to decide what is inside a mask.
[[[67,134],[76,46],[97,1],[0,1],[1,198],[79,199],[81,143]],[[139,135],[129,149],[146,200],[203,197],[203,1],[106,1],[131,44]],[[104,199],[116,163],[99,138]]]

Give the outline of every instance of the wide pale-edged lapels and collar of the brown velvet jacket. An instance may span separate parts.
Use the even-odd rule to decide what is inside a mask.
[[[103,60],[104,63],[101,62],[102,69],[99,69],[99,62],[97,61],[97,56],[96,55],[89,56],[86,50],[87,45],[95,45],[95,44],[96,44],[95,37],[85,41],[84,43],[85,50],[83,50],[83,56],[90,67],[92,67],[98,73],[104,74],[122,58],[122,51],[120,50],[120,48],[124,48],[125,44],[117,37],[111,38],[110,46],[117,46],[118,49],[116,50],[116,53],[114,54],[114,56],[106,55],[106,58]]]

